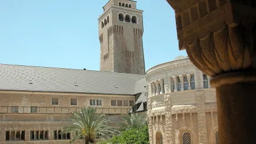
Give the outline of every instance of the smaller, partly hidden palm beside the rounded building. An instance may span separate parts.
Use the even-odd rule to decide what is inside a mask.
[[[132,128],[142,128],[147,125],[147,120],[146,120],[146,113],[142,114],[134,114],[132,113],[130,116],[124,116],[122,119],[125,121],[125,123],[120,123],[120,131],[124,131],[127,129],[132,129]]]

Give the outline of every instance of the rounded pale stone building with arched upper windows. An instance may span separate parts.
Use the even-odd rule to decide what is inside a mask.
[[[215,89],[186,56],[146,71],[150,143],[219,143]]]

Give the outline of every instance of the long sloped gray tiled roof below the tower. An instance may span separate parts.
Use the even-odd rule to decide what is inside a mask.
[[[0,64],[0,90],[134,95],[136,80],[144,77],[104,71]],[[29,84],[29,81],[33,84]]]

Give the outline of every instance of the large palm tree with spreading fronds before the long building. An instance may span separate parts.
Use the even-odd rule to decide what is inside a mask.
[[[106,115],[102,113],[97,115],[95,113],[96,109],[92,107],[84,107],[81,111],[74,112],[74,116],[70,117],[72,124],[64,126],[61,134],[68,132],[76,133],[70,143],[80,138],[85,141],[85,144],[93,143],[96,137],[103,140],[111,138],[112,134],[116,131],[115,128],[107,126],[110,121],[106,120]]]

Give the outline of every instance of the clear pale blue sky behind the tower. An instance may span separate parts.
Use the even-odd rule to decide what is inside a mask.
[[[109,0],[1,0],[0,63],[100,69],[98,20]],[[138,0],[144,10],[146,70],[179,51],[175,14],[165,0]]]

